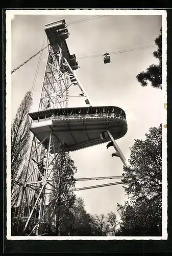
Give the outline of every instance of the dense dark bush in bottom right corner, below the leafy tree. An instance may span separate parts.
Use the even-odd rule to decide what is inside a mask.
[[[143,197],[139,203],[118,204],[121,222],[116,236],[161,236],[161,205]]]

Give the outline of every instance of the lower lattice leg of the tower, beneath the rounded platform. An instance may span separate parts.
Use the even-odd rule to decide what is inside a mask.
[[[53,172],[56,167],[59,151],[55,151],[55,135],[50,132],[42,141],[33,139],[28,165],[27,177],[24,180],[20,200],[18,223],[22,223],[23,231],[42,232],[41,227],[45,214],[51,204],[47,205],[48,193],[53,186]]]

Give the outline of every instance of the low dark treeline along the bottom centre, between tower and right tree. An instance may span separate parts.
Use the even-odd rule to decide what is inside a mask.
[[[86,211],[81,197],[76,198],[72,208],[60,219],[59,223],[57,216],[54,215],[51,221],[47,221],[44,225],[42,234],[46,236],[114,236],[116,232],[115,213],[110,212],[107,216],[91,215]]]

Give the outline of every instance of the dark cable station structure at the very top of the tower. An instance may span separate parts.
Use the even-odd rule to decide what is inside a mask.
[[[72,70],[78,69],[76,55],[70,55],[66,44],[66,39],[69,37],[69,33],[65,19],[45,25],[45,33],[50,42],[50,45],[54,50],[54,53],[56,54],[59,51],[59,47],[61,47],[63,49],[63,56],[67,59]]]

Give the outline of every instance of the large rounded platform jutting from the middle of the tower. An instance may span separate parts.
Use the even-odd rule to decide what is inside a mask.
[[[110,141],[101,133],[107,131],[115,140],[127,133],[127,120],[124,110],[116,106],[91,106],[85,108],[50,109],[29,114],[32,118],[30,130],[42,141],[54,135],[55,152],[60,144],[65,151],[76,151]]]

